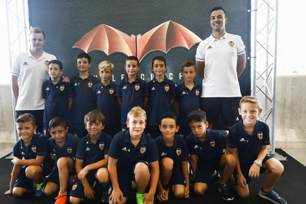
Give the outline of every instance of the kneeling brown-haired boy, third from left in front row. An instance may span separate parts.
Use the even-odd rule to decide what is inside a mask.
[[[99,110],[93,110],[85,115],[84,125],[88,134],[80,140],[76,151],[77,179],[69,194],[72,204],[85,198],[95,199],[95,180],[104,185],[110,182],[107,163],[112,137],[102,132],[105,117]],[[102,195],[102,201],[107,201],[107,194]]]

